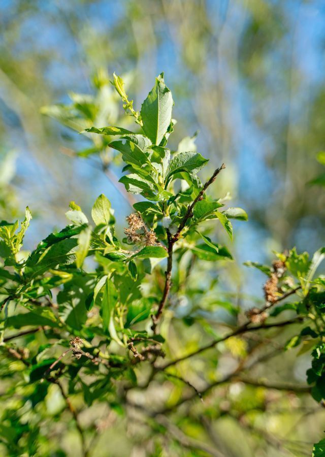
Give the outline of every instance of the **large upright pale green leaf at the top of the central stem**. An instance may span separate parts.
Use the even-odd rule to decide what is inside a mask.
[[[167,133],[173,104],[172,92],[165,84],[164,73],[161,73],[141,107],[144,133],[155,145],[159,145]]]

